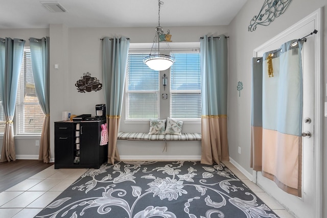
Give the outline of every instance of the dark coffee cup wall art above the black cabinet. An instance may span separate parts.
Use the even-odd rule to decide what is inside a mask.
[[[77,87],[77,91],[81,93],[102,89],[102,83],[96,77],[91,77],[89,72],[84,73],[81,79],[76,81],[75,86]]]

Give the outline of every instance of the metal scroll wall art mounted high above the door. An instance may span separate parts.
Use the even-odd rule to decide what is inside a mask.
[[[251,19],[248,31],[255,31],[257,25],[268,26],[287,10],[291,2],[292,0],[265,0],[259,14]]]

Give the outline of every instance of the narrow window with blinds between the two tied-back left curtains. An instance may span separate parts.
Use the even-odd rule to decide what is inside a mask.
[[[44,114],[35,92],[29,47],[24,49],[15,112],[16,134],[40,134],[42,132]]]

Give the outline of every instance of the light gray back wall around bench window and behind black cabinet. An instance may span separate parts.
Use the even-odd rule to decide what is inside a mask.
[[[227,27],[164,27],[169,29],[172,34],[171,46],[181,46],[180,43],[199,42],[200,37],[205,34],[226,34]],[[67,36],[63,32],[67,30]],[[155,34],[155,28],[66,28],[63,25],[50,26],[51,41],[51,125],[61,119],[61,112],[64,110],[72,111],[72,114],[90,113],[95,115],[95,105],[104,103],[104,92],[81,93],[77,91],[75,83],[84,73],[89,72],[92,77],[97,77],[101,81],[101,41],[100,39],[108,36],[126,36],[130,38],[130,43],[149,43]],[[63,40],[63,43],[61,43]],[[176,45],[179,44],[179,45]],[[66,59],[66,61],[65,61]],[[67,65],[65,64],[67,62]],[[54,69],[54,64],[59,64],[59,70]],[[61,64],[64,63],[64,64]],[[166,72],[169,74],[169,71]],[[162,87],[162,86],[161,86]],[[166,87],[166,93],[168,93]],[[166,102],[165,102],[166,101]],[[167,101],[162,101],[166,104]],[[121,118],[120,130],[122,131],[149,131],[149,124],[125,124],[125,106]],[[161,118],[167,117],[162,113]],[[184,124],[185,132],[201,132],[200,124]],[[51,131],[51,151],[54,151],[53,131]],[[162,152],[164,143],[160,142],[136,142],[120,140],[118,150],[122,158],[144,158],[153,156],[161,159],[171,159],[172,156],[200,157],[201,143],[168,143],[168,151]],[[136,157],[135,157],[136,156]],[[175,156],[176,158],[176,156]]]

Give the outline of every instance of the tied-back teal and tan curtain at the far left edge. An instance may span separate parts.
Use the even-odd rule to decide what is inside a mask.
[[[0,162],[16,160],[13,117],[25,40],[0,38],[0,92],[6,117]]]

